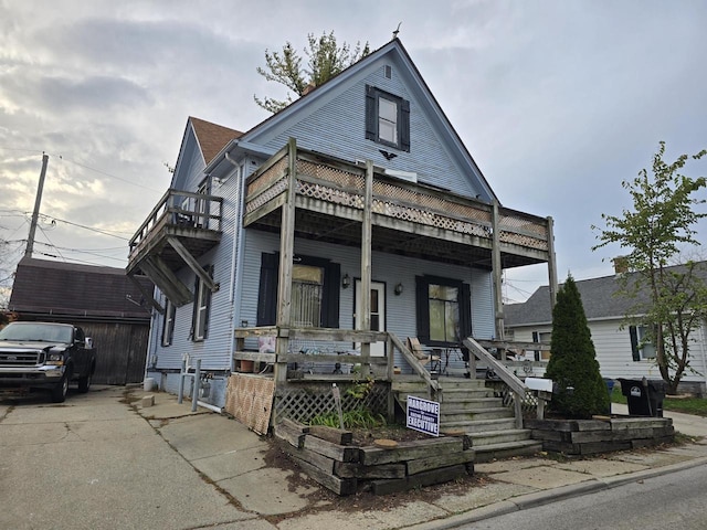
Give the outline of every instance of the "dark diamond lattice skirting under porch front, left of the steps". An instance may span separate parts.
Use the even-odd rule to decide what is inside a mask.
[[[344,412],[352,411],[363,405],[374,414],[386,414],[388,410],[388,393],[390,392],[388,384],[377,383],[362,400],[347,393],[347,390],[352,384],[337,384],[341,394],[341,409]],[[336,412],[331,385],[327,383],[302,383],[302,385],[277,389],[274,406],[275,423],[288,417],[296,422],[308,424],[313,417],[319,414]]]

